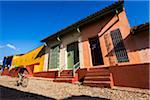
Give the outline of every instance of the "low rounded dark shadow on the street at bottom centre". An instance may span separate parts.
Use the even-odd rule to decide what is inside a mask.
[[[109,100],[109,99],[101,98],[101,97],[92,97],[87,95],[80,95],[80,96],[71,96],[62,100]]]

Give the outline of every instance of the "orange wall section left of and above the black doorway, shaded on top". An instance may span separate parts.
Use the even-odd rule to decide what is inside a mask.
[[[98,35],[102,26],[105,25],[106,22],[108,22],[108,20],[110,20],[110,16],[103,18],[103,20],[98,20],[95,23],[90,23],[89,25],[85,25],[85,27],[81,28],[83,59],[84,59],[83,66],[86,68],[92,66],[90,44],[88,39]]]

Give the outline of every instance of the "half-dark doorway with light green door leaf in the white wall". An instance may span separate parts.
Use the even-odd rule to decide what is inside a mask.
[[[67,68],[73,68],[77,62],[79,62],[78,42],[74,42],[67,46]]]

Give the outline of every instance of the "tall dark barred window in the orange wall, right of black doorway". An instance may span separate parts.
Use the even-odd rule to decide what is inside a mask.
[[[128,62],[128,55],[125,49],[120,30],[114,30],[111,33],[111,38],[114,45],[115,54],[118,62]]]

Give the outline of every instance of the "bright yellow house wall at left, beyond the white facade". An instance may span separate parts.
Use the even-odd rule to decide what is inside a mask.
[[[13,56],[12,68],[19,66],[34,65],[34,72],[43,71],[44,55],[38,56],[40,51],[44,48],[44,45],[37,47],[36,49],[27,52],[21,56]]]

